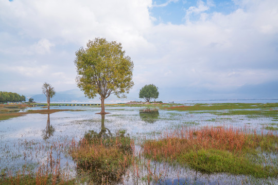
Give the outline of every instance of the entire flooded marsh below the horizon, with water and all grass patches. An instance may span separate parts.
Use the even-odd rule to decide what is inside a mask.
[[[278,183],[278,103],[0,108],[1,184]]]

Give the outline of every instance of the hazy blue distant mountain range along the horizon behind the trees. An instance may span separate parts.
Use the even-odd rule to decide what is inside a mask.
[[[139,98],[139,90],[133,90],[126,99],[111,95],[106,103],[126,103],[129,101],[144,101]],[[46,97],[27,95],[36,102],[46,102]],[[232,90],[212,90],[204,87],[167,87],[159,88],[158,101],[186,101],[186,100],[233,100],[233,99],[278,99],[278,81],[257,85],[243,85]],[[27,100],[28,101],[28,100]],[[95,102],[100,103],[99,95],[94,99],[86,98],[79,89],[59,91],[51,98],[51,102]]]

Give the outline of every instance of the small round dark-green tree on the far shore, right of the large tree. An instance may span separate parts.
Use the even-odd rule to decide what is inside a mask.
[[[153,84],[145,85],[139,92],[139,98],[143,98],[146,102],[150,102],[152,99],[157,99],[158,96],[158,87]]]

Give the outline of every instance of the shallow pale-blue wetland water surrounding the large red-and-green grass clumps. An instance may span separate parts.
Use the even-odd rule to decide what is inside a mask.
[[[40,109],[44,108],[29,107],[23,111]],[[39,165],[46,165],[48,168],[48,159],[51,158],[59,163],[59,167],[68,178],[77,176],[75,162],[67,154],[67,145],[70,145],[73,140],[79,141],[90,130],[97,133],[101,131],[101,116],[95,114],[100,112],[100,108],[96,106],[51,106],[50,109],[67,110],[53,114],[27,114],[0,121],[0,170],[2,173],[14,173],[26,169],[36,171]],[[277,107],[274,110],[277,110]],[[160,107],[114,105],[107,106],[106,112],[111,114],[105,116],[105,127],[112,134],[125,130],[134,139],[137,153],[140,153],[142,139],[155,138],[164,131],[179,129],[183,126],[224,125],[239,127],[248,132],[254,130],[264,134],[271,132],[274,135],[277,135],[276,128],[278,127],[278,120],[273,117],[227,114],[229,110],[178,111]],[[274,130],[266,130],[268,125],[271,125]],[[271,155],[277,160],[277,152]],[[277,179],[273,178],[257,179],[226,173],[202,174],[179,165],[172,166],[166,162],[158,163],[148,160],[145,162],[149,163],[152,173],[162,174],[162,180],[152,181],[151,184],[278,184]],[[148,184],[146,165],[142,165],[139,170],[141,173],[139,179],[130,175],[131,171],[132,169],[124,175],[121,183]]]

